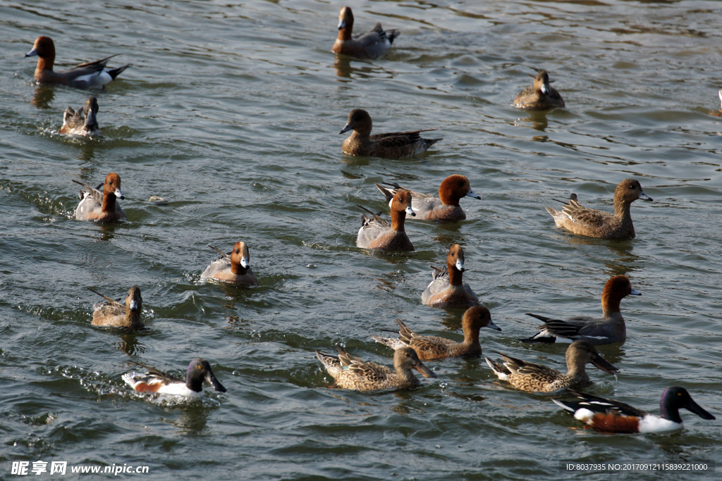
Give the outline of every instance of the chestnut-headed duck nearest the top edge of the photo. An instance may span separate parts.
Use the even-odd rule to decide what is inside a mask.
[[[377,23],[373,30],[362,35],[351,37],[354,30],[354,14],[351,8],[344,6],[339,13],[339,37],[336,38],[331,51],[356,58],[379,58],[383,56],[393,39],[399,36],[399,30],[384,31]]]

